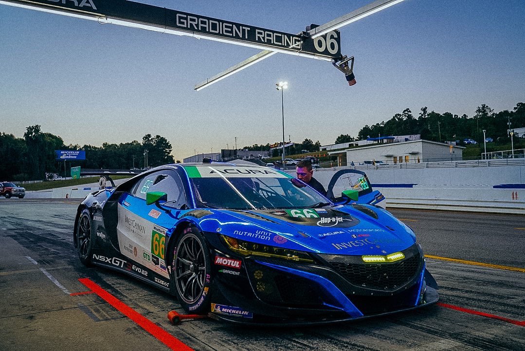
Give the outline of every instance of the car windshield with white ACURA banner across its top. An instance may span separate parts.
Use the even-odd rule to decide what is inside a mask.
[[[193,168],[193,169],[191,169]],[[232,210],[313,208],[330,203],[289,174],[257,167],[186,167],[197,207]]]

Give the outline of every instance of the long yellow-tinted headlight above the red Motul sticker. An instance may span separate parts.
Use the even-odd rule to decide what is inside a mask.
[[[257,243],[252,243],[249,241],[239,240],[231,238],[230,236],[220,235],[223,238],[226,245],[229,249],[239,255],[243,256],[264,256],[264,257],[274,257],[277,259],[285,259],[298,262],[307,262],[314,263],[310,255],[306,252],[281,249],[280,247],[262,245]]]

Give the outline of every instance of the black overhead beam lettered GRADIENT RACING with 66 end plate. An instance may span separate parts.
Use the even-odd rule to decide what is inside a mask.
[[[308,36],[278,32],[128,0],[0,0],[0,4],[47,10],[98,19],[100,23],[190,35],[300,56],[326,60],[341,57],[341,38],[338,30],[312,39]]]

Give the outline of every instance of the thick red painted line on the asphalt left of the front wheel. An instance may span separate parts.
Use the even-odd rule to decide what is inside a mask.
[[[137,323],[146,332],[153,335],[156,339],[158,339],[161,343],[169,347],[171,350],[194,351],[193,348],[187,346],[181,340],[177,339],[176,337],[166,332],[164,329],[162,329],[155,323],[151,322],[148,318],[144,317],[143,315],[135,311],[133,308],[120,301],[117,297],[114,297],[113,295],[108,293],[106,290],[101,288],[97,283],[93,282],[89,278],[81,278],[79,279],[79,282],[86,285],[95,294],[100,296],[102,300],[106,301],[111,306],[118,309],[118,311],[130,318],[133,322]]]

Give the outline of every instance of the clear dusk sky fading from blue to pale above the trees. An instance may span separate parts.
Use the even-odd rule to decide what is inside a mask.
[[[371,0],[145,1],[298,33]],[[201,91],[193,86],[260,50],[0,5],[0,132],[40,125],[66,144],[161,135],[182,160],[286,139],[330,144],[410,108],[469,117],[525,102],[523,0],[406,0],[341,28],[349,87],[329,62],[276,54]],[[525,127],[525,126],[515,126]]]

